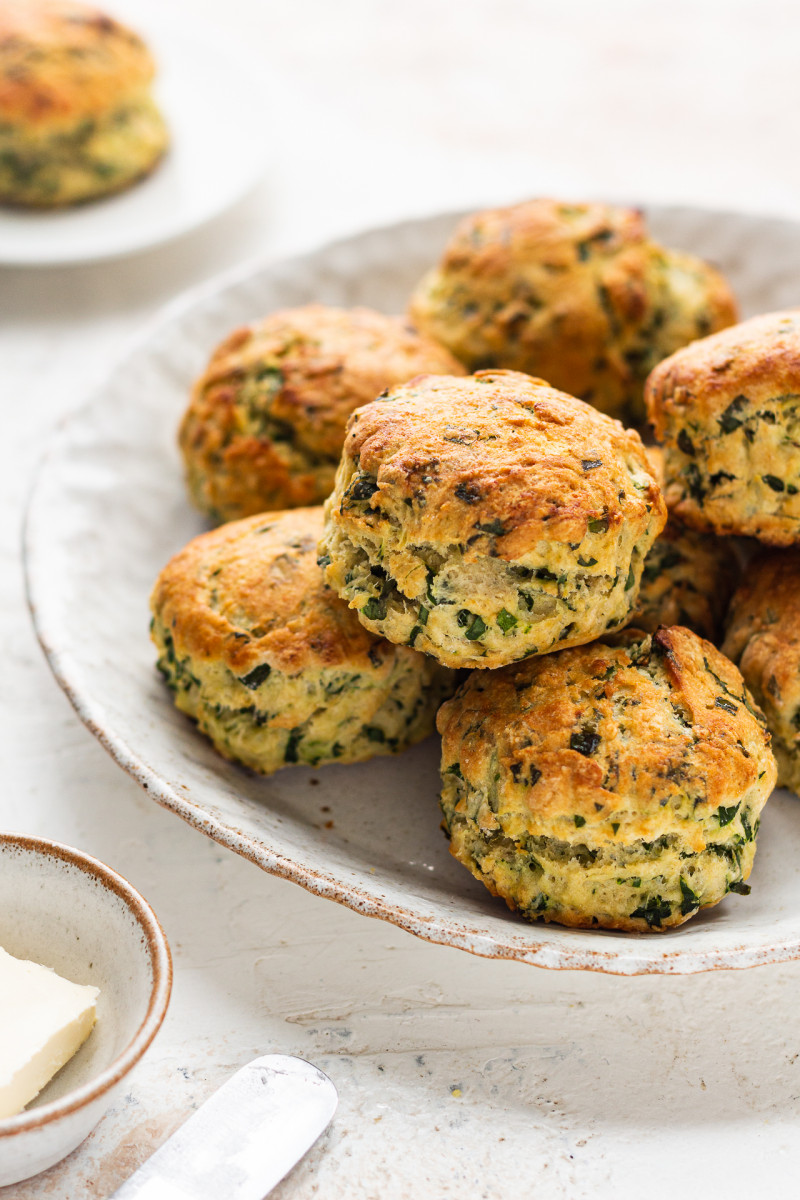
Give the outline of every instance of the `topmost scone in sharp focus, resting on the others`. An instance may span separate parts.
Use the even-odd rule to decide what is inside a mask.
[[[421,376],[357,409],[325,512],[333,589],[451,667],[624,624],[666,517],[637,433],[513,371]]]

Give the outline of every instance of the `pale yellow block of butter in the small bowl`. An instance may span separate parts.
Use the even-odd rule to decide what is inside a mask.
[[[0,1117],[22,1112],[80,1049],[98,995],[0,948]]]

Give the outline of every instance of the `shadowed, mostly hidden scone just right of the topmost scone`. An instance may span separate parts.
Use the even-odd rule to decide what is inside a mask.
[[[669,521],[644,560],[631,624],[654,634],[686,625],[715,646],[739,578],[739,559],[724,538]]]

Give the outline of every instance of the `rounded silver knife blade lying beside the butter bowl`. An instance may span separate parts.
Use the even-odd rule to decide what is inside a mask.
[[[327,1128],[338,1094],[288,1055],[231,1075],[110,1200],[263,1200]]]

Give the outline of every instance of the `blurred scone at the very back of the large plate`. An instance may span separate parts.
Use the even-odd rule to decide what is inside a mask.
[[[527,371],[638,421],[648,372],[736,305],[714,268],[651,241],[640,212],[537,199],[463,220],[410,314],[470,370]]]

